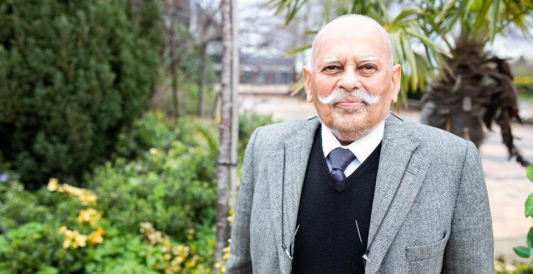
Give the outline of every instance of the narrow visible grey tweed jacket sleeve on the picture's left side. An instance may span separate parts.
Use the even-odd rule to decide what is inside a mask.
[[[250,214],[254,195],[254,143],[257,138],[256,128],[248,141],[242,163],[239,196],[235,207],[235,221],[231,232],[230,257],[226,263],[227,274],[252,273],[250,258]]]

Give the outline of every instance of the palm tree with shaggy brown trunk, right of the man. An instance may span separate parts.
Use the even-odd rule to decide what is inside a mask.
[[[533,1],[448,1],[424,2],[429,16],[429,32],[441,31],[453,37],[451,70],[439,75],[424,94],[422,122],[446,129],[470,139],[476,146],[483,141],[483,124],[490,129],[493,121],[500,126],[509,155],[527,166],[515,147],[511,121],[518,116],[517,89],[507,60],[486,53],[485,45],[510,26],[531,37],[527,16],[533,13]],[[458,27],[456,33],[450,32]]]

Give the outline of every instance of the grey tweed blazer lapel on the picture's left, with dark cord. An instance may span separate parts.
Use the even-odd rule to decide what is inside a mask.
[[[283,246],[292,247],[303,179],[319,124],[320,121],[315,118],[294,128],[281,136],[279,147],[268,155],[269,197],[281,273],[291,272],[292,260],[289,256],[292,256],[292,251],[287,254]]]

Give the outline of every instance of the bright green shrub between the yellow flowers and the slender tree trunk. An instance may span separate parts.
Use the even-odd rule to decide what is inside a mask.
[[[122,155],[144,152],[129,161],[118,157],[87,180],[98,209],[120,229],[135,231],[149,221],[184,241],[187,229],[213,223],[216,126],[192,118],[174,124],[160,114],[146,115],[117,149]]]

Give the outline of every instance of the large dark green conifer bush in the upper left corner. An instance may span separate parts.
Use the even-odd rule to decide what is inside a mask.
[[[159,23],[154,0],[0,3],[0,151],[26,187],[80,180],[146,109]]]

